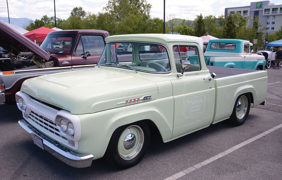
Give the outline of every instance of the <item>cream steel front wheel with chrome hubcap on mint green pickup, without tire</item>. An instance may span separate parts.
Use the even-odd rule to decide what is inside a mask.
[[[133,159],[143,147],[144,132],[137,125],[131,125],[119,137],[118,153],[124,160]]]

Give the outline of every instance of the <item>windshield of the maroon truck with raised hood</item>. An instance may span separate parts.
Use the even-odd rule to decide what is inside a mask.
[[[53,54],[70,54],[75,40],[76,34],[52,34],[47,35],[40,47]]]

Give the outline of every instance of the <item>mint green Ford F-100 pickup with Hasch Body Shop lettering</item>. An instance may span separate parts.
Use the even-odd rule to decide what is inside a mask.
[[[267,71],[206,66],[200,38],[105,40],[93,69],[31,78],[16,93],[18,123],[37,146],[72,167],[104,156],[128,168],[143,158],[151,130],[169,142],[225,119],[241,125],[251,103],[265,103]]]

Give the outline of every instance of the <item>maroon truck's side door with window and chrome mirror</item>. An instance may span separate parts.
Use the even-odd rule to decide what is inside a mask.
[[[72,66],[97,64],[105,47],[104,39],[103,34],[81,34],[71,55]],[[81,57],[87,51],[91,52],[91,56]]]

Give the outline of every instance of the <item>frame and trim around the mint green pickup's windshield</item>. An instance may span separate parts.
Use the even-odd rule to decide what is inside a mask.
[[[134,67],[133,67],[133,68],[134,68],[136,71],[147,72],[147,73],[152,73],[152,74],[168,74],[168,73],[170,73],[170,72],[172,71],[172,63],[171,63],[171,60],[170,60],[170,52],[169,52],[169,49],[167,48],[167,46],[164,45],[164,44],[155,43],[155,42],[148,42],[148,41],[109,41],[109,42],[106,42],[105,48],[104,48],[104,50],[103,50],[103,52],[102,52],[102,55],[103,55],[104,51],[106,50],[107,44],[112,44],[112,43],[144,43],[144,44],[147,44],[147,45],[148,45],[148,44],[161,45],[161,46],[165,47],[165,50],[166,50],[166,52],[167,52],[168,61],[169,61],[169,64],[170,64],[170,71],[155,72],[155,71],[145,71],[145,70],[141,70],[141,69],[136,69],[136,68],[134,68]],[[135,46],[135,45],[134,45],[134,46]],[[138,47],[138,49],[139,49],[139,47]],[[116,48],[116,50],[117,50],[117,48]],[[132,51],[132,57],[133,57],[133,61],[132,61],[132,62],[136,61],[136,60],[134,60],[134,58],[135,58],[135,53],[136,53],[136,52],[134,52],[134,50],[133,50],[133,51]],[[139,52],[138,52],[138,54],[139,54]],[[102,58],[102,55],[101,55],[100,59]],[[99,60],[99,61],[100,61],[100,60]],[[129,70],[132,70],[132,71],[133,71],[132,68],[127,67],[127,66],[124,67],[124,65],[123,65],[123,64],[126,64],[126,65],[127,65],[127,64],[129,64],[129,63],[131,63],[131,62],[121,62],[121,63],[114,64],[114,65],[107,65],[108,63],[106,63],[106,64],[99,64],[99,61],[98,61],[98,63],[97,63],[97,66],[98,66],[98,67],[100,67],[100,66],[119,67],[119,68],[129,69]],[[121,65],[121,66],[117,66],[117,65]]]

